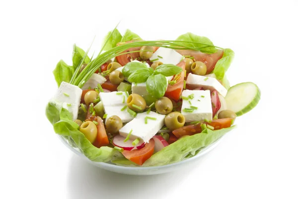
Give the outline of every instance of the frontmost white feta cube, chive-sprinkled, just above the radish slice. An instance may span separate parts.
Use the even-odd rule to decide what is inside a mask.
[[[147,124],[145,123],[146,117],[156,118],[155,120],[147,118]],[[137,138],[140,139],[140,142],[149,142],[149,140],[158,132],[159,129],[164,125],[165,115],[158,114],[156,112],[150,111],[138,113],[137,116],[125,126],[119,130],[119,134],[123,137],[126,137],[131,130],[130,135],[131,140]]]

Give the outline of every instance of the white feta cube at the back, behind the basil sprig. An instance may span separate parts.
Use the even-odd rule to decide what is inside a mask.
[[[163,64],[177,65],[179,62],[181,62],[182,59],[183,56],[177,53],[175,50],[160,47],[153,53],[152,57],[150,58],[150,61],[155,60],[153,62],[159,61]]]

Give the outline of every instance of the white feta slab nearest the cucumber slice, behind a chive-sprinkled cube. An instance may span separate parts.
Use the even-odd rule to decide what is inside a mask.
[[[192,88],[203,87],[205,89],[210,89],[210,91],[217,90],[219,94],[224,97],[227,93],[224,86],[217,79],[212,77],[205,77],[190,73],[187,77],[186,84]]]

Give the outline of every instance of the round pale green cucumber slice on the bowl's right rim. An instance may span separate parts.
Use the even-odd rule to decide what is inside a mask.
[[[252,82],[244,82],[232,86],[225,96],[227,109],[232,110],[237,116],[253,109],[261,98],[261,91]]]

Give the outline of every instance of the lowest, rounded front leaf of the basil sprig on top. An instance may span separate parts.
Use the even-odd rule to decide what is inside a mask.
[[[161,74],[152,75],[147,80],[146,90],[154,98],[158,99],[164,96],[166,87],[167,87],[166,79]]]

